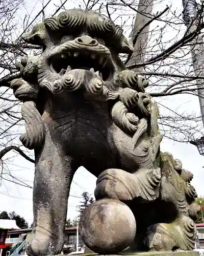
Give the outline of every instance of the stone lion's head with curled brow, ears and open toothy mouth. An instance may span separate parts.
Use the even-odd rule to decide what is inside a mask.
[[[88,80],[95,84],[93,91],[105,86],[114,92],[126,87],[124,79],[120,79],[121,71],[126,68],[118,54],[134,50],[122,32],[111,19],[99,13],[72,9],[45,19],[31,32],[24,33],[23,39],[43,48],[38,70],[41,87],[53,93],[63,88],[74,91]],[[137,86],[138,77],[134,82],[134,76],[132,83]],[[143,92],[143,87],[139,91]]]

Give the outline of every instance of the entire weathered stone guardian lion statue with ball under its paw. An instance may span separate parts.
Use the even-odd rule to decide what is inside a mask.
[[[41,56],[17,63],[11,82],[22,103],[22,144],[35,151],[34,228],[28,255],[61,252],[75,171],[97,177],[95,198],[80,221],[84,243],[98,253],[192,250],[200,210],[192,174],[160,152],[157,104],[147,80],[119,58],[132,43],[112,20],[67,10],[23,39]]]

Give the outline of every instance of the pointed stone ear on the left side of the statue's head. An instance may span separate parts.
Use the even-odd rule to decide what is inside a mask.
[[[37,24],[30,32],[22,34],[24,41],[32,45],[44,46],[46,40],[46,28],[44,23]]]

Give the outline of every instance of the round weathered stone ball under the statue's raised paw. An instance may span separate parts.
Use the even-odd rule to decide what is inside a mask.
[[[85,209],[79,230],[89,249],[99,254],[113,254],[122,251],[134,241],[136,221],[126,204],[102,199]]]

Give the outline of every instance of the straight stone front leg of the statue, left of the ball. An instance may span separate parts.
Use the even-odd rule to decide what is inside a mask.
[[[27,247],[29,256],[60,253],[74,171],[72,159],[52,141],[46,129],[43,148],[35,150],[34,229]]]

